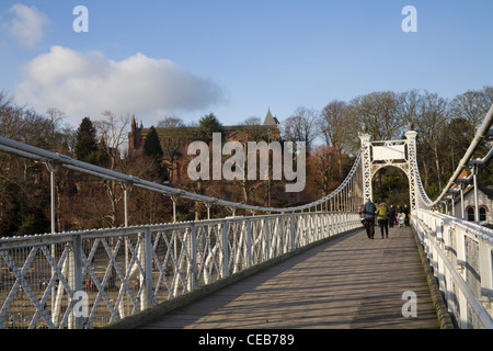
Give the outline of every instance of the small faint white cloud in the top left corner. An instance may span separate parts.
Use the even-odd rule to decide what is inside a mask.
[[[49,23],[49,20],[36,7],[16,3],[10,8],[9,12],[13,13],[14,18],[5,23],[4,27],[22,45],[30,47],[43,38],[43,27]]]

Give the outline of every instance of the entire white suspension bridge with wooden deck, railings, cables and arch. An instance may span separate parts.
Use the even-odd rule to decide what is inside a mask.
[[[0,328],[493,328],[493,230],[448,214],[463,184],[478,188],[493,148],[472,155],[493,140],[492,122],[493,106],[435,201],[410,127],[401,140],[364,131],[340,186],[286,208],[198,195],[0,137],[1,151],[45,163],[51,182],[51,233],[0,238]],[[125,226],[55,233],[60,167],[121,184]],[[369,240],[357,210],[383,167],[408,176],[411,227]],[[174,216],[177,199],[204,204],[207,218],[128,226],[130,186],[170,196]],[[232,215],[211,219],[213,206]]]

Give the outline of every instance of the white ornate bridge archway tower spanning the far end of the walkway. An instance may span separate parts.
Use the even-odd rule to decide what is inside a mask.
[[[372,199],[374,176],[385,167],[401,169],[409,180],[410,208],[419,208],[416,199],[417,190],[417,161],[416,161],[416,135],[417,132],[408,131],[405,139],[401,140],[371,140],[371,135],[364,131],[359,135],[362,140],[362,170],[363,170],[363,196],[364,202]]]

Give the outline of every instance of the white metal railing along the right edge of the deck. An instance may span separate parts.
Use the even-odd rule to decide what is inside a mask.
[[[417,210],[412,224],[459,328],[493,328],[493,230]]]

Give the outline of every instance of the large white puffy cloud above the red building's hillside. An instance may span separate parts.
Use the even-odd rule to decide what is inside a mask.
[[[24,67],[15,100],[43,112],[100,116],[102,111],[140,117],[193,112],[223,102],[210,78],[197,77],[168,59],[136,54],[122,61],[99,52],[53,46]]]

